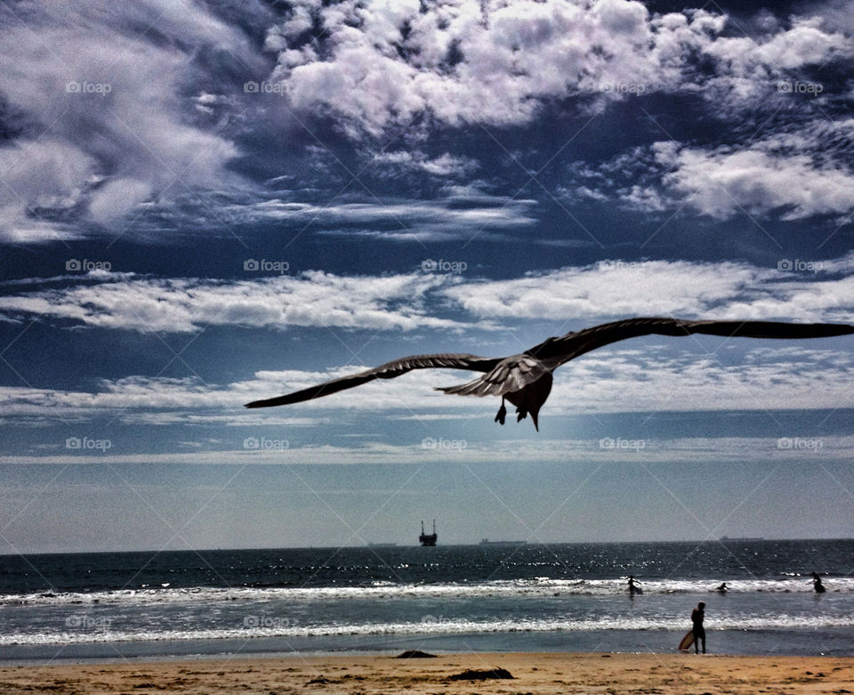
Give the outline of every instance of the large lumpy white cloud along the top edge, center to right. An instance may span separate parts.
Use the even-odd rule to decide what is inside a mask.
[[[727,22],[705,10],[650,14],[631,0],[305,0],[270,29],[267,47],[294,108],[334,115],[357,136],[424,114],[449,125],[520,125],[544,101],[579,94],[601,101],[710,88],[711,101],[755,98],[786,70],[850,53],[820,19],[737,37],[723,35]],[[323,50],[310,43],[318,28],[328,36]]]

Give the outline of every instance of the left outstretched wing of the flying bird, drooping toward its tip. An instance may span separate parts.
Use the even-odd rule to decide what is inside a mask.
[[[395,376],[406,374],[413,369],[471,369],[476,372],[488,372],[500,361],[500,359],[479,357],[478,355],[453,353],[413,355],[412,357],[404,357],[400,360],[386,362],[379,367],[367,369],[358,374],[342,376],[340,379],[333,379],[324,384],[310,386],[307,389],[302,389],[302,391],[286,393],[284,396],[267,400],[253,400],[251,403],[246,403],[246,408],[270,408],[271,406],[285,406],[289,403],[299,403],[302,400],[320,398],[321,396],[328,396],[330,393],[337,393],[344,389],[351,389],[354,386],[367,384],[367,382],[374,379],[393,379]]]

